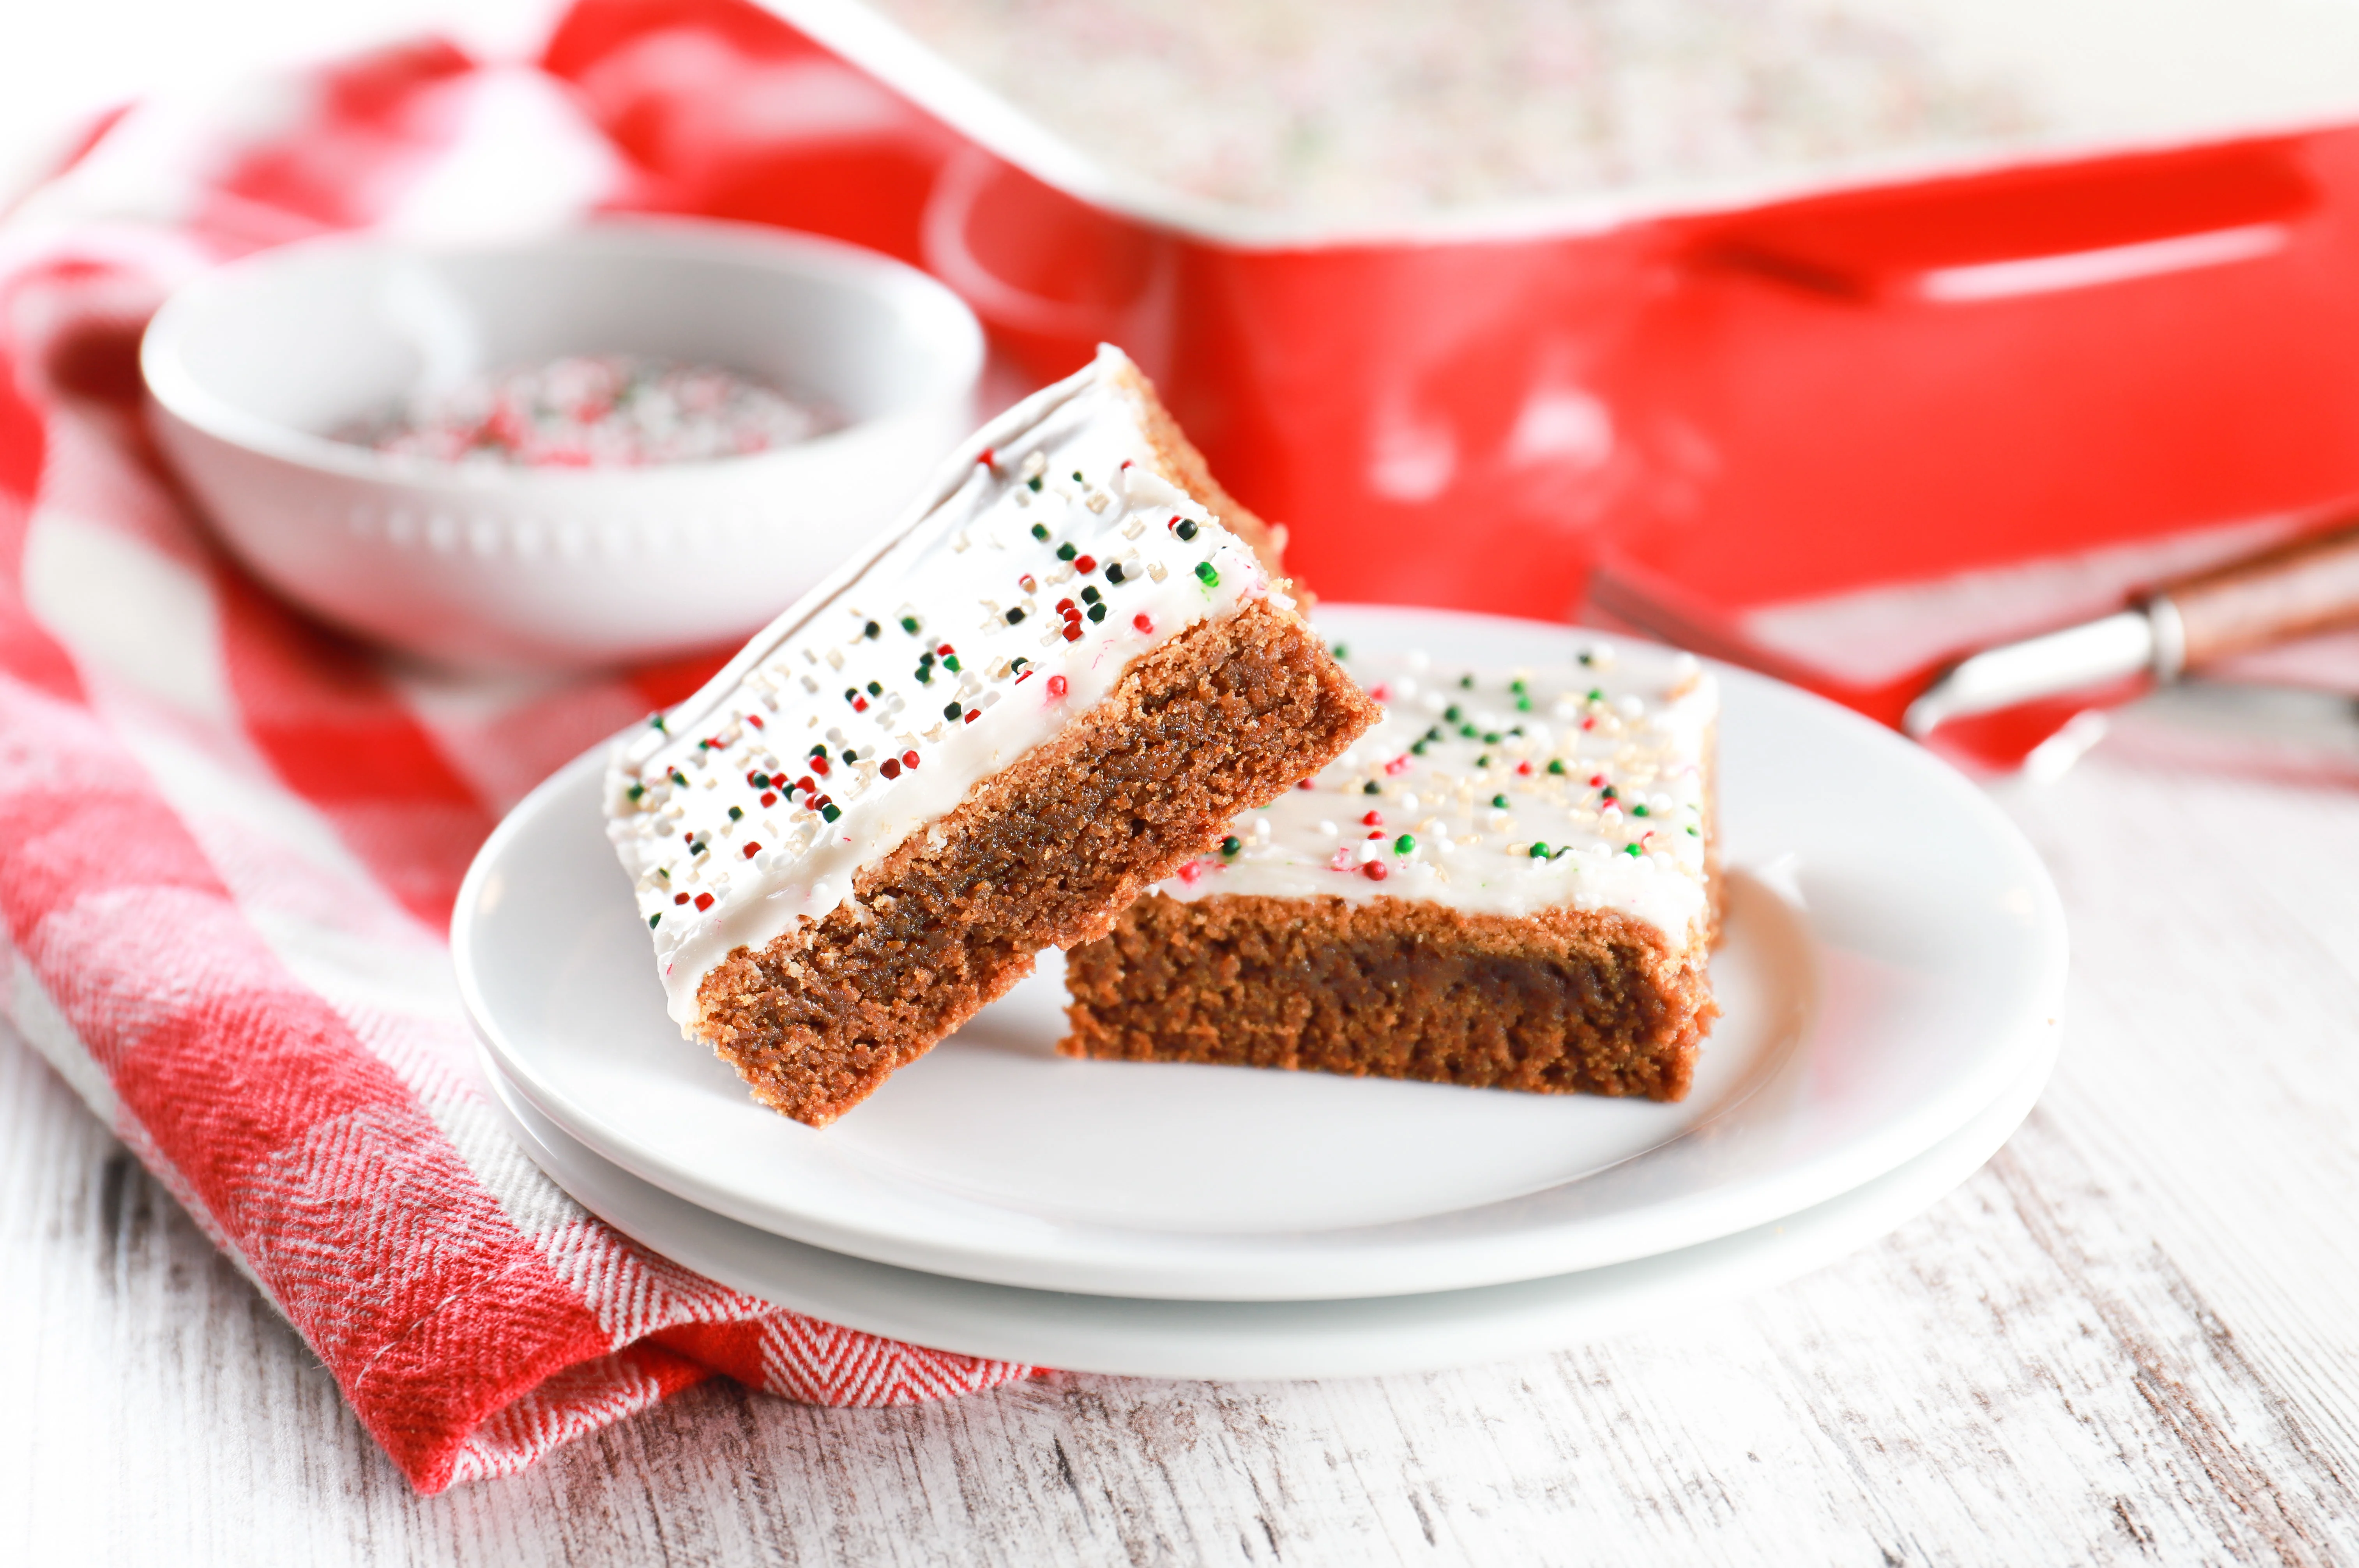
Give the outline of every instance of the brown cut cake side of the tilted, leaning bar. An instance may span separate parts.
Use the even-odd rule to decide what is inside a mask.
[[[1201,622],[859,872],[845,905],[722,960],[696,1035],[757,1101],[826,1125],[1375,717],[1300,615],[1255,599]]]

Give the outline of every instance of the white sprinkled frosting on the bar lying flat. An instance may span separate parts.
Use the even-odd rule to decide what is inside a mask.
[[[1158,891],[1616,910],[1687,948],[1708,901],[1720,712],[1691,655],[1599,637],[1531,670],[1338,658],[1385,705],[1382,724]]]

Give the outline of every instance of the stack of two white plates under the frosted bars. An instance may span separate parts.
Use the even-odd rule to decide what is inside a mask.
[[[1335,608],[1491,667],[1576,634]],[[623,1233],[795,1311],[1161,1377],[1489,1361],[1783,1283],[1970,1177],[2057,1049],[2064,915],[1989,799],[1890,731],[1720,670],[1722,1019],[1677,1106],[1066,1061],[1059,962],[826,1129],[665,1019],[602,757],[484,846],[460,988],[519,1141]]]

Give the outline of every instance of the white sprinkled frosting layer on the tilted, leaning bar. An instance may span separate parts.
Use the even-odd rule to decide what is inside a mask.
[[[835,910],[1130,660],[1290,604],[1156,472],[1128,365],[1099,349],[988,424],[911,521],[616,745],[606,835],[682,1030],[729,953]]]

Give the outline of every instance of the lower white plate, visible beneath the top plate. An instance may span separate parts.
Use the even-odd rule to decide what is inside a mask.
[[[828,1323],[965,1356],[1123,1377],[1375,1377],[1507,1361],[1783,1285],[1868,1245],[1974,1174],[2048,1082],[2055,1033],[1965,1127],[1899,1170],[1774,1224],[1548,1280],[1356,1302],[1139,1302],[868,1264],[722,1219],[599,1160],[493,1087],[533,1160],[625,1236]]]

